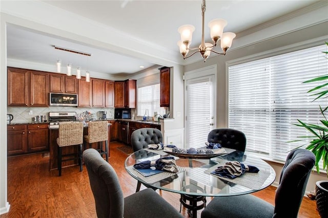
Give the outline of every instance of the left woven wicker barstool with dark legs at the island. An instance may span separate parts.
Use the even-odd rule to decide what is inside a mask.
[[[61,162],[78,159],[80,171],[82,171],[82,144],[83,144],[83,123],[59,123],[59,134],[57,138],[58,155],[57,166],[58,176],[61,176]],[[65,146],[78,145],[77,154],[62,154],[62,148]],[[77,155],[77,157],[76,157]],[[70,157],[63,160],[63,157]]]

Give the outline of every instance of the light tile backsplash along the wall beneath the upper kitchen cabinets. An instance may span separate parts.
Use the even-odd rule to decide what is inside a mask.
[[[14,119],[12,123],[31,122],[32,118],[38,115],[45,115],[49,121],[49,112],[76,112],[76,114],[85,111],[94,115],[95,119],[100,118],[99,111],[107,111],[107,118],[114,118],[114,108],[94,108],[94,107],[69,107],[69,106],[49,106],[49,107],[21,107],[8,106],[7,114],[12,114]],[[32,114],[31,114],[32,113]]]

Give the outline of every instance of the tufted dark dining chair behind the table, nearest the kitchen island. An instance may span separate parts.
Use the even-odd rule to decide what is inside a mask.
[[[157,128],[139,128],[134,130],[131,135],[131,145],[133,151],[148,148],[149,144],[158,144],[163,142],[163,135]],[[144,183],[143,183],[144,184]],[[144,184],[149,187],[147,184]],[[138,181],[136,192],[140,190],[141,182]]]

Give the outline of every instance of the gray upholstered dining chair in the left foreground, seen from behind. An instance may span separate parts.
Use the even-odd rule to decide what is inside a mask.
[[[153,189],[147,188],[124,198],[113,167],[93,148],[83,152],[97,217],[182,217]]]

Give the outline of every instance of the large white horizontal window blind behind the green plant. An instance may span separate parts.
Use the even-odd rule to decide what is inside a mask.
[[[241,63],[229,67],[229,127],[247,137],[247,150],[284,161],[305,142],[290,142],[311,134],[293,125],[297,119],[318,124],[319,105],[307,93],[320,83],[302,83],[327,74],[326,46]]]

